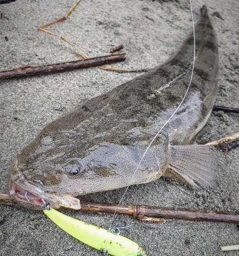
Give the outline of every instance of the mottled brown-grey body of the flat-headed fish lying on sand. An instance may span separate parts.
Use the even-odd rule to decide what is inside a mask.
[[[68,195],[146,183],[162,175],[191,184],[174,171],[181,161],[180,154],[188,155],[186,147],[172,145],[193,142],[206,123],[216,96],[217,39],[206,7],[201,11],[195,28],[196,62],[190,90],[141,164],[138,166],[146,148],[187,90],[193,64],[193,34],[162,65],[46,125],[11,164],[9,193],[15,201],[39,209],[39,205],[29,204],[19,196],[13,184],[53,205],[72,208],[78,206]],[[189,146],[189,151],[199,156],[199,163],[193,165],[196,169],[201,155],[205,154],[205,166],[210,161],[206,156],[208,148],[198,151],[198,147]],[[183,153],[178,154],[178,148]],[[211,171],[210,164],[208,168]]]

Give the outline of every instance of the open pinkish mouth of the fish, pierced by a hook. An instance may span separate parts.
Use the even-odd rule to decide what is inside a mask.
[[[22,188],[15,182],[11,183],[10,196],[18,204],[31,209],[42,209],[43,201],[50,204],[50,207],[58,209],[60,207],[80,209],[80,200],[75,198],[76,195],[60,195],[44,193],[40,188],[33,184],[25,183],[29,190]],[[34,191],[34,194],[33,194]],[[43,199],[43,201],[42,201]]]

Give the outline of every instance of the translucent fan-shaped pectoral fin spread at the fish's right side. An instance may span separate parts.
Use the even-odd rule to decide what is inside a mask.
[[[189,187],[209,187],[214,177],[215,152],[205,145],[169,146],[170,164],[163,175]],[[214,153],[214,154],[213,154]],[[200,185],[200,186],[199,186]]]

